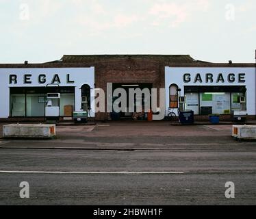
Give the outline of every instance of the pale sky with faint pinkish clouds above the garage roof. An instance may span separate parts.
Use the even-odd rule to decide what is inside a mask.
[[[0,0],[0,63],[64,54],[255,62],[255,0]]]

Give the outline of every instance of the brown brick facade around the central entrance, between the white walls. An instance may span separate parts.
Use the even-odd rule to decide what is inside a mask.
[[[107,83],[152,83],[153,88],[164,88],[164,65],[153,60],[131,58],[104,61],[95,65],[95,77],[95,88],[102,88],[105,94]],[[95,119],[105,120],[107,113],[96,114]]]

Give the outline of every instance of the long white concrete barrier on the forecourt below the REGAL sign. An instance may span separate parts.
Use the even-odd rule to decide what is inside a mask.
[[[51,138],[56,136],[55,125],[10,124],[3,125],[3,138]]]

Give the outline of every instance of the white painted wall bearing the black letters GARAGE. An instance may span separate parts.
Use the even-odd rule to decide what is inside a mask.
[[[183,82],[183,75],[190,73],[191,81],[189,83]],[[194,77],[200,73],[203,82],[194,83]],[[214,83],[206,83],[205,74],[212,73],[214,75]],[[225,83],[216,83],[218,74],[222,73]],[[229,73],[235,74],[235,81],[233,83],[227,81]],[[245,83],[238,82],[238,74],[245,74]],[[248,115],[256,115],[256,78],[255,68],[165,68],[165,86],[166,86],[166,110],[169,106],[169,86],[176,83],[181,88],[181,95],[184,95],[184,86],[246,86],[247,88],[247,113]],[[175,110],[177,113],[177,110]]]

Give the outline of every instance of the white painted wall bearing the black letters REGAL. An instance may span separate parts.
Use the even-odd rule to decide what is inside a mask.
[[[23,75],[31,74],[31,84],[23,83]],[[47,75],[47,81],[44,84],[38,83],[38,75]],[[60,77],[60,86],[75,86],[75,110],[81,108],[81,88],[88,84],[94,88],[94,67],[90,68],[0,68],[0,118],[8,118],[10,114],[10,87],[44,87],[51,83],[53,76],[58,74]],[[66,74],[70,74],[70,79],[75,83],[66,83]],[[10,84],[9,76],[17,75],[17,83]],[[91,96],[92,99],[92,96]],[[94,113],[91,114],[94,117]]]

